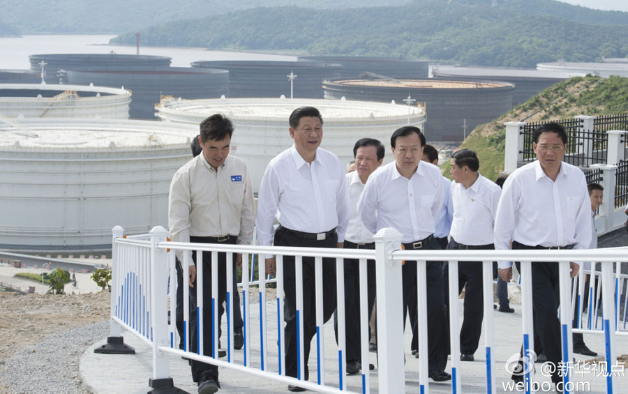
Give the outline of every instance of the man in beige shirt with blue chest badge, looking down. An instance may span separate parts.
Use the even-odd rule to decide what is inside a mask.
[[[220,114],[209,116],[200,124],[202,154],[174,174],[170,183],[168,222],[170,238],[177,242],[251,243],[255,220],[253,188],[244,160],[229,156],[233,126]],[[181,262],[190,255],[188,266],[190,298],[196,291],[196,253],[179,252]],[[218,303],[226,298],[226,254],[218,254]],[[235,260],[234,260],[235,261]],[[241,262],[241,255],[237,256]],[[203,252],[203,344],[202,354],[212,354],[211,252]],[[197,324],[192,324],[190,338],[197,338]],[[197,352],[197,341],[190,340]],[[198,393],[218,391],[216,365],[190,361]]]

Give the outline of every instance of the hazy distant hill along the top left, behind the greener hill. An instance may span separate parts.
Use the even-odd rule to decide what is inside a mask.
[[[391,6],[411,0],[387,0]],[[380,5],[379,0],[0,0],[3,22],[22,34],[124,33],[154,24],[220,15],[260,6],[350,8]]]

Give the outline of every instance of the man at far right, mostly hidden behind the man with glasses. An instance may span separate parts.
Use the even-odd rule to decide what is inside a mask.
[[[587,189],[589,190],[589,197],[591,200],[591,243],[589,245],[589,249],[597,249],[597,229],[595,228],[595,215],[597,209],[602,203],[602,199],[604,198],[604,188],[599,183],[590,183],[589,185],[587,185]],[[585,262],[582,266],[582,269],[585,270],[584,294],[579,301],[576,301],[576,308],[574,308],[574,328],[578,328],[578,310],[583,310],[585,302],[589,298],[591,266],[591,262]],[[595,271],[595,266],[593,268]],[[579,278],[576,278],[576,280],[574,280],[574,286],[576,286],[576,289],[578,289],[578,280]],[[597,282],[598,281],[595,280],[596,287],[598,285]],[[591,305],[589,305],[589,308],[589,310],[592,311]],[[589,312],[589,314],[591,313],[592,312]],[[574,353],[583,354],[584,356],[597,356],[597,353],[589,349],[589,347],[585,344],[582,333],[574,333],[572,335],[572,338],[574,338]]]

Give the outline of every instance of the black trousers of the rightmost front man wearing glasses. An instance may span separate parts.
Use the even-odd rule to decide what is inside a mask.
[[[536,249],[533,246],[512,243],[513,249]],[[521,263],[515,262],[521,272]],[[560,352],[560,320],[558,305],[560,300],[558,263],[532,262],[532,316],[534,327],[534,352],[545,351],[548,363],[553,363],[552,381],[562,381],[558,365],[562,361]]]

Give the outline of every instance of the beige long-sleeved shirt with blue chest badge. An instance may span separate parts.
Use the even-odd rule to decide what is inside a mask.
[[[190,242],[190,236],[232,235],[238,237],[238,243],[251,243],[254,206],[244,160],[227,156],[216,171],[200,154],[172,177],[168,196],[170,239]],[[180,259],[182,256],[177,254]]]

